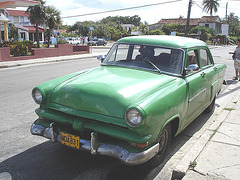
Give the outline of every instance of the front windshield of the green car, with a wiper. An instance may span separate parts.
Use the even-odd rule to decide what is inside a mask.
[[[139,44],[114,44],[103,65],[181,74],[184,51]]]

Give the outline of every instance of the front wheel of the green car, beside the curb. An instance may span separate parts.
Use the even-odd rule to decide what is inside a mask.
[[[148,162],[145,163],[146,167],[148,166],[150,168],[153,168],[163,162],[170,146],[171,137],[172,137],[172,127],[171,127],[171,124],[169,123],[163,128],[162,133],[159,137],[158,153],[152,159],[150,159]]]

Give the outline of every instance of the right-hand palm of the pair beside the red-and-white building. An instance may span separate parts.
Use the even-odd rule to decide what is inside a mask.
[[[46,15],[45,24],[49,28],[49,31],[48,31],[48,48],[49,48],[51,32],[56,25],[61,24],[61,17],[60,17],[60,11],[58,11],[53,6],[46,7],[45,15]]]

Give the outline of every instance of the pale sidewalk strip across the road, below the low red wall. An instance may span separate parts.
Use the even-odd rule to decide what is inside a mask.
[[[24,65],[37,64],[37,63],[68,61],[68,60],[74,60],[74,59],[86,59],[86,58],[92,58],[97,56],[98,56],[97,54],[78,54],[78,55],[70,55],[70,56],[57,56],[57,57],[28,59],[28,60],[20,60],[20,61],[3,61],[3,62],[0,62],[0,68],[24,66]]]

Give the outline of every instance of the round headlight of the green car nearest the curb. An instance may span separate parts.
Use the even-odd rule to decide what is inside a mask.
[[[129,109],[125,118],[128,125],[132,127],[136,127],[142,122],[141,113],[137,109]]]

